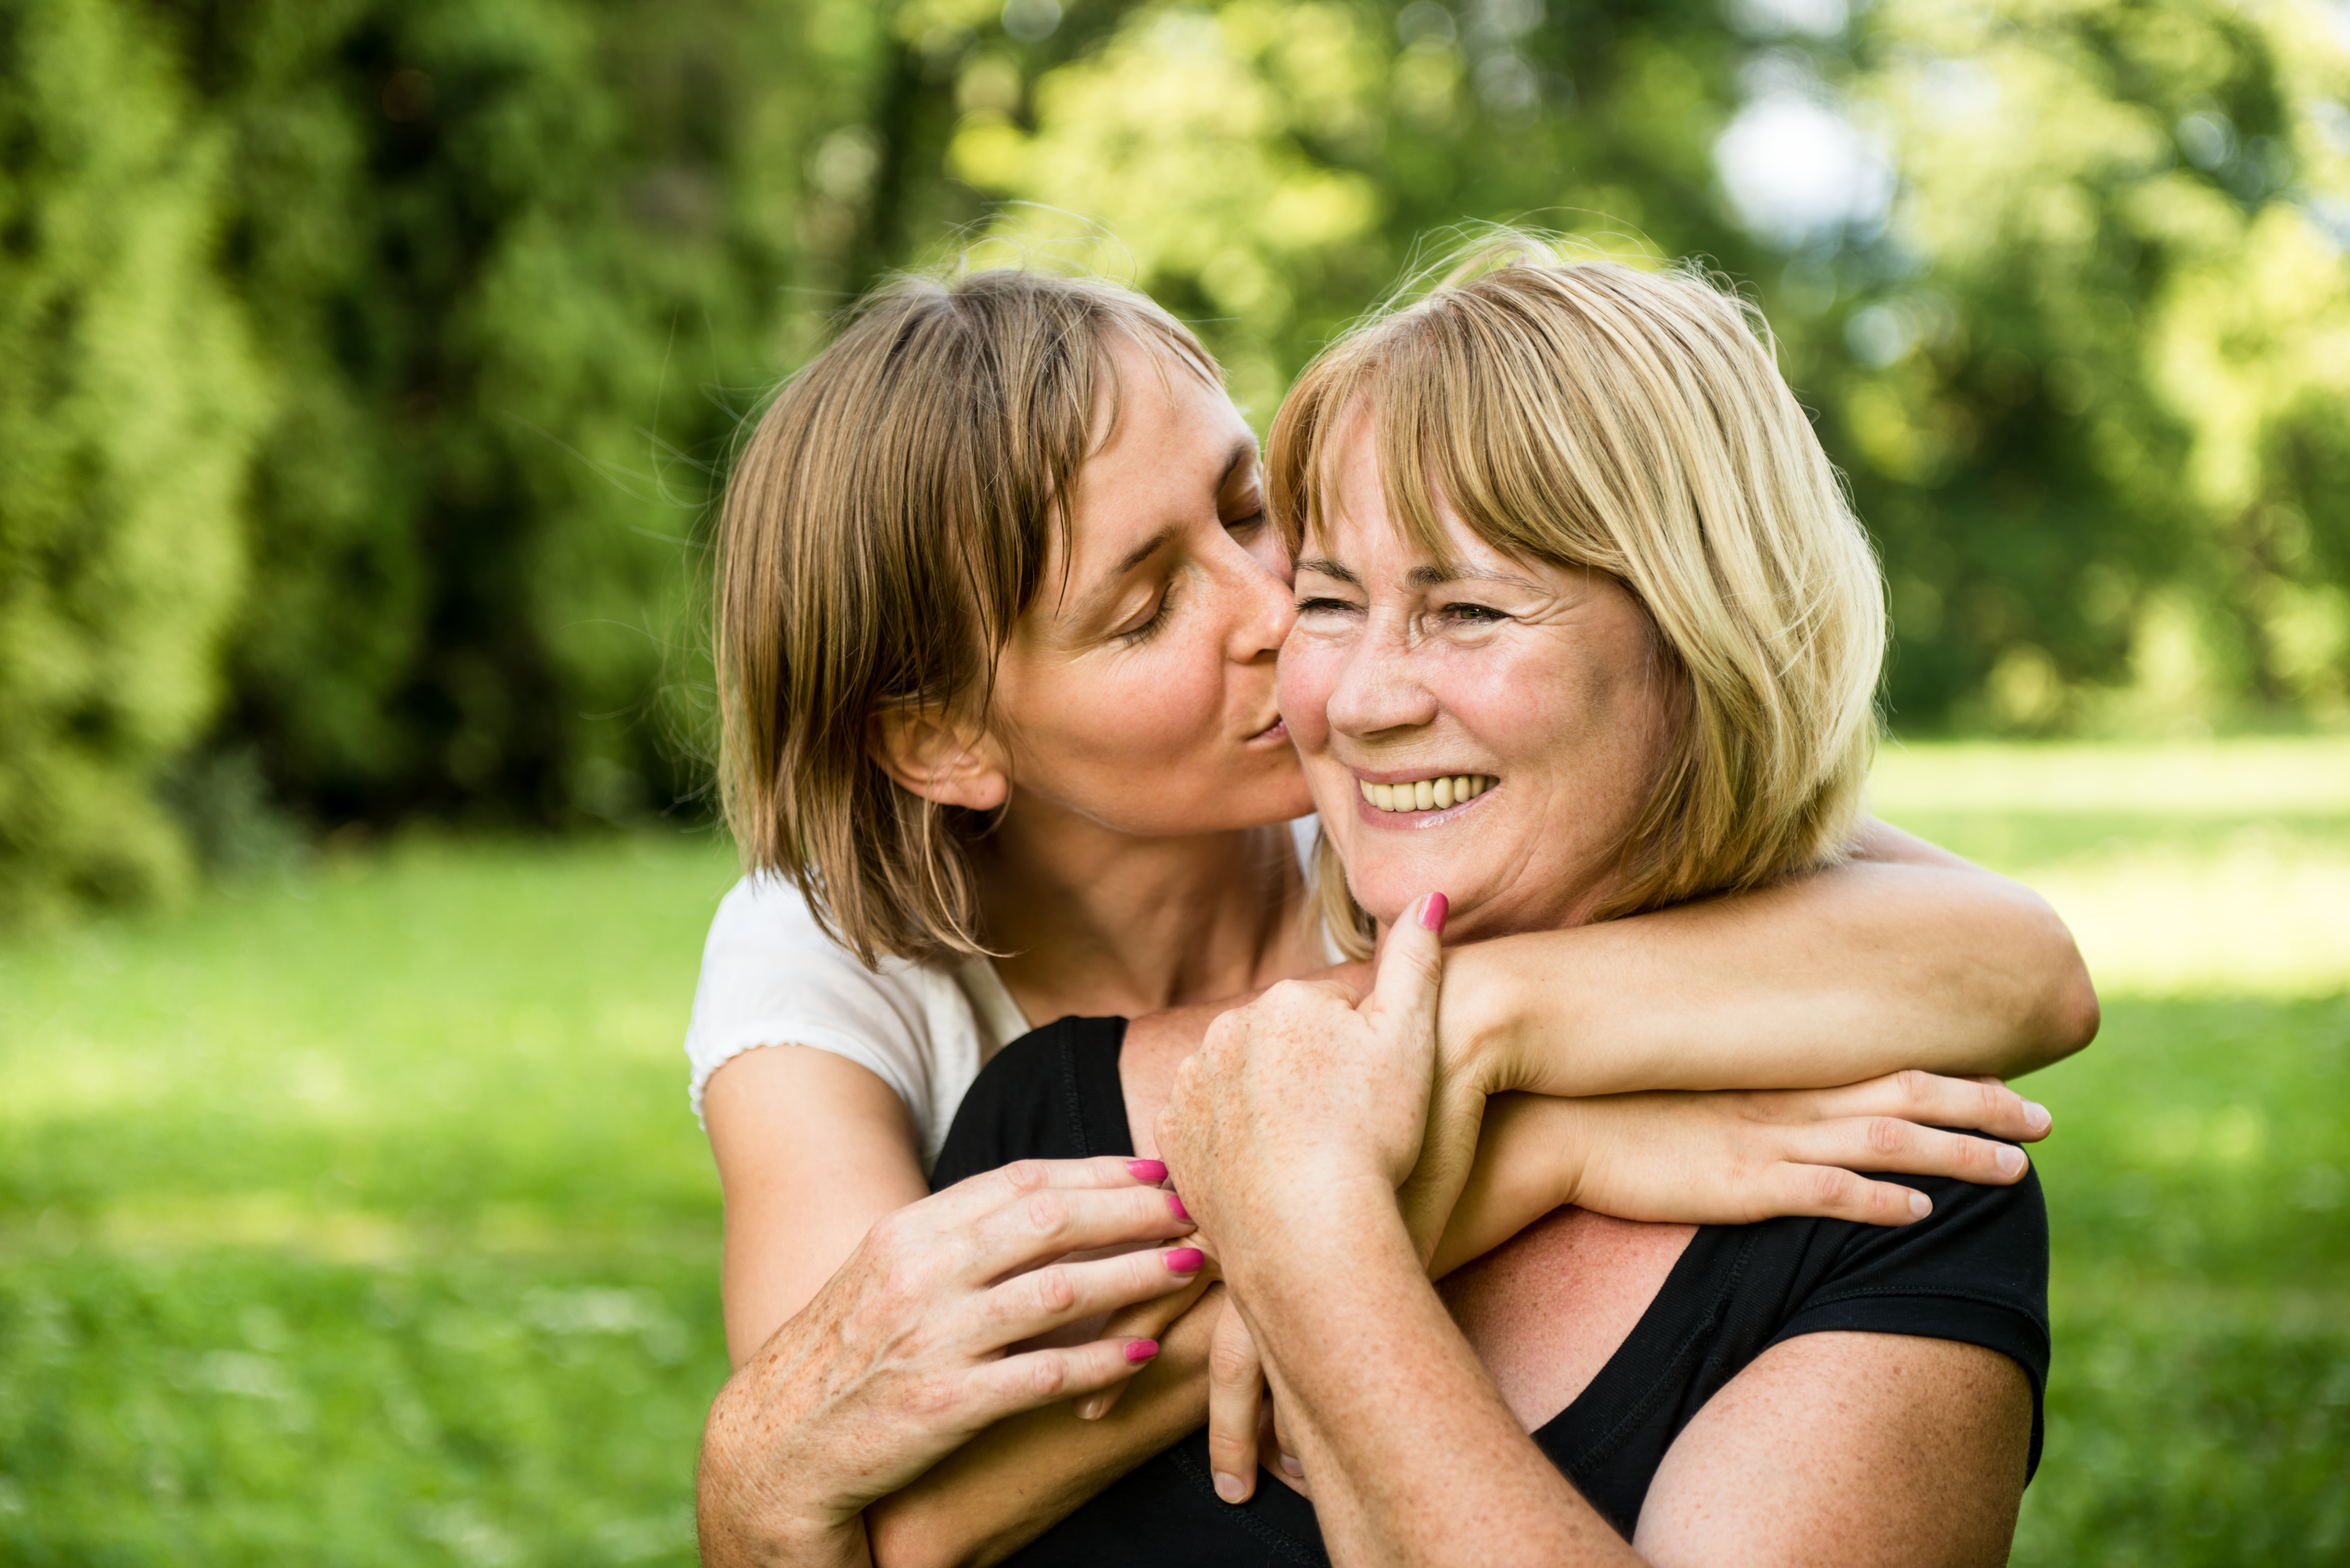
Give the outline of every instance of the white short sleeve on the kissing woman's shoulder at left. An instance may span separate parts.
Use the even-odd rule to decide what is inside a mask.
[[[759,1046],[815,1046],[870,1067],[898,1091],[928,1152],[935,1079],[954,1065],[940,1063],[938,1037],[956,1025],[973,1034],[968,1013],[952,976],[902,961],[879,973],[865,969],[815,924],[797,886],[745,877],[710,922],[693,987],[686,1025],[693,1114],[703,1114],[710,1074],[736,1056]],[[952,1056],[973,1058],[954,1084],[959,1093],[978,1070],[978,1044]]]

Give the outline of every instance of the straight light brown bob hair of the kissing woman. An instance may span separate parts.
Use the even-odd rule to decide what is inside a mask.
[[[985,952],[987,816],[898,788],[872,719],[985,722],[1102,416],[1114,339],[1222,386],[1152,301],[1095,277],[898,277],[792,376],[719,515],[719,790],[743,865],[792,879],[865,964]]]

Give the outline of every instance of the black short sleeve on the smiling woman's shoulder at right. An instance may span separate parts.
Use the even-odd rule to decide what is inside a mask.
[[[1927,1194],[1934,1213],[1901,1227],[1838,1225],[1845,1241],[1835,1265],[1793,1302],[1770,1342],[1849,1331],[1995,1349],[2030,1378],[2037,1469],[2049,1380],[2049,1211],[2037,1166],[2012,1187],[1889,1180]]]

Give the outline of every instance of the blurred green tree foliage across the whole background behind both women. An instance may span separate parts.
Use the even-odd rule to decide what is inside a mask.
[[[1048,252],[1262,423],[1464,221],[1760,299],[1901,729],[2350,719],[2350,28],[2298,0],[0,0],[0,856],[689,795],[743,411]],[[240,816],[242,813],[242,816]],[[223,827],[226,823],[226,827]]]

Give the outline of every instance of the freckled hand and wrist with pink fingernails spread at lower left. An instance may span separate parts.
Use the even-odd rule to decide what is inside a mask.
[[[1194,1225],[1163,1180],[1156,1159],[1029,1159],[879,1220],[719,1392],[703,1561],[855,1561],[862,1512],[940,1458],[1149,1366],[1156,1333],[1086,1324],[1206,1288],[1208,1255],[1166,1246]],[[1055,1331],[1083,1342],[1039,1342]]]

